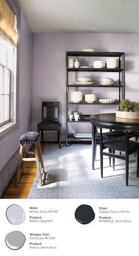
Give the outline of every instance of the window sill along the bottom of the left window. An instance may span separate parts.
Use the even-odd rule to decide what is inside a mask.
[[[19,125],[15,122],[9,122],[0,127],[0,140],[11,134],[11,132],[14,132],[17,128],[19,128]]]

